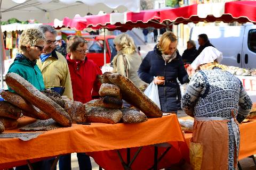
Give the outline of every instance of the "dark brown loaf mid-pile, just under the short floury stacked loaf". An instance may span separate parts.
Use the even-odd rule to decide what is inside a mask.
[[[97,106],[97,107],[118,109],[118,108],[122,108],[123,100],[112,97],[112,96],[105,96],[100,99],[91,100],[87,104],[91,106]]]

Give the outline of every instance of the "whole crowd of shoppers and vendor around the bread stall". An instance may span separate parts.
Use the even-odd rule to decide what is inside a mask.
[[[155,30],[151,32],[156,42]],[[143,30],[145,43],[148,33],[147,29]],[[177,113],[182,108],[195,118],[190,143],[191,166],[236,168],[238,123],[249,114],[252,102],[241,81],[220,64],[222,53],[210,43],[207,35],[198,36],[198,50],[194,41],[188,41],[181,56],[177,36],[165,31],[143,60],[127,34],[116,36],[114,44],[113,73],[129,78],[141,91],[151,82],[156,84],[163,112]],[[19,74],[40,91],[59,87],[63,99],[87,103],[99,96],[101,84],[97,75],[102,74],[97,64],[86,57],[87,48],[87,41],[82,37],[70,36],[66,43],[52,26],[41,25],[22,32],[19,53],[8,72]],[[190,63],[187,70],[184,62]],[[182,98],[178,81],[188,83]],[[124,101],[124,107],[131,105]],[[77,158],[79,169],[92,169],[90,157],[85,153],[77,153]],[[71,169],[70,159],[70,154],[61,156],[59,168]],[[52,163],[53,159],[46,159],[34,163],[33,167],[50,169]],[[21,166],[16,169],[29,168]]]

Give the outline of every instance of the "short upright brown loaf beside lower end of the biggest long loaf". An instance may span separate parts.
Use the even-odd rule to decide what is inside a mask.
[[[72,123],[86,122],[85,105],[79,101],[67,101],[65,111],[71,117]]]

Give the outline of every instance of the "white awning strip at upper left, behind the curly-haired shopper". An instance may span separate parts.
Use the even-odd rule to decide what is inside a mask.
[[[42,25],[42,23],[33,23],[33,24],[21,24],[21,23],[11,23],[6,25],[1,25],[2,32],[4,31],[23,31],[28,28],[35,28],[39,25]]]

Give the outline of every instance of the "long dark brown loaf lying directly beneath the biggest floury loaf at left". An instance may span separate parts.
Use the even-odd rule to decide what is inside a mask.
[[[15,94],[11,91],[2,91],[1,96],[8,101],[9,103],[13,104],[14,106],[19,107],[22,110],[23,115],[38,118],[40,120],[46,120],[50,118],[48,115],[40,111],[37,107],[30,104],[27,100],[21,97],[18,94]]]

